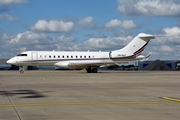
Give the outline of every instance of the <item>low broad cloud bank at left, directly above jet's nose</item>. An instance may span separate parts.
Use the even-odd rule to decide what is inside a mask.
[[[0,57],[14,56],[24,51],[77,50],[72,36],[52,38],[45,33],[26,31],[17,35],[0,34]],[[6,52],[4,52],[6,51]]]

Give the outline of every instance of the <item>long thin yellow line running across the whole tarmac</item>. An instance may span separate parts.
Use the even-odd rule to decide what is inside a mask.
[[[138,104],[179,104],[178,102],[164,102],[164,101],[152,101],[152,102],[52,102],[52,103],[22,103],[22,104],[0,104],[0,107],[30,107],[30,106],[58,106],[58,105],[138,105]]]

